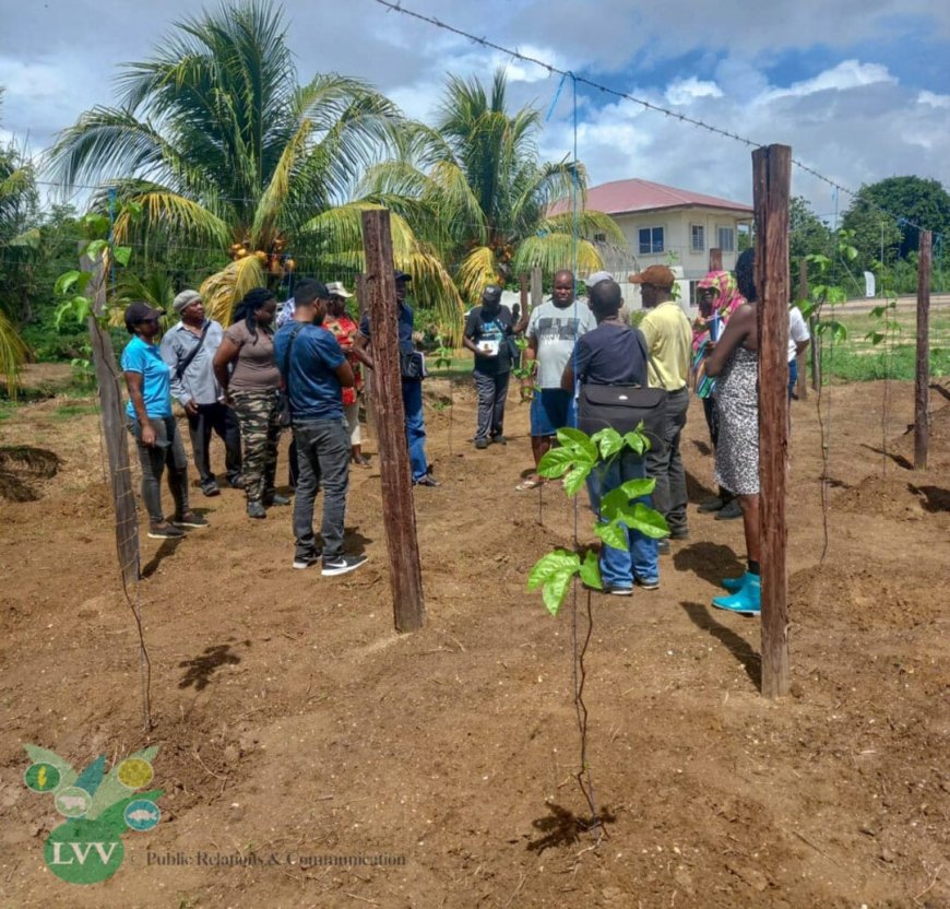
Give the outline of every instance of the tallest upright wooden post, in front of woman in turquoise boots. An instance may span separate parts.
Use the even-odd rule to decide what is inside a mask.
[[[785,476],[788,453],[788,200],[792,149],[752,152],[759,331],[762,694],[788,693]]]

